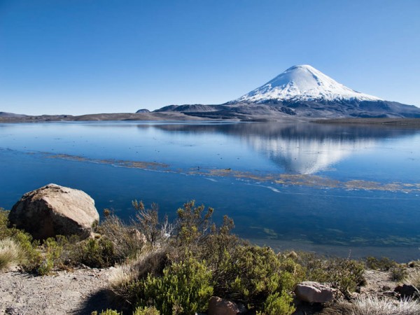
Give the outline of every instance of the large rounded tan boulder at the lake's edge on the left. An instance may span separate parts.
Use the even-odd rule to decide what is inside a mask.
[[[49,184],[20,198],[8,216],[10,225],[29,232],[35,239],[56,235],[92,234],[99,221],[94,200],[82,190]]]

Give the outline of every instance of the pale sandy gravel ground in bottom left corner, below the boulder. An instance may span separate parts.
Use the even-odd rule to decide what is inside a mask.
[[[111,269],[76,269],[51,276],[2,272],[0,314],[84,315],[106,309],[110,273]]]

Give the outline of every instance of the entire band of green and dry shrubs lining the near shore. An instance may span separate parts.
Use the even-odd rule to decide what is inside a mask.
[[[349,298],[365,285],[366,267],[391,271],[395,281],[407,276],[404,267],[386,258],[361,261],[275,253],[272,248],[248,244],[232,234],[231,218],[225,216],[216,225],[214,209],[194,201],[178,209],[172,223],[161,218],[156,204],[147,209],[134,201],[133,207],[137,215],[130,224],[106,209],[94,237],[83,241],[62,236],[34,240],[22,230],[8,228],[8,211],[0,211],[0,269],[20,265],[27,272],[45,275],[83,265],[115,266],[110,288],[124,314],[136,315],[204,312],[211,296],[235,301],[253,314],[292,314],[293,290],[301,281],[330,283],[337,294]],[[360,300],[351,309],[371,302]],[[120,312],[108,309],[101,314]]]

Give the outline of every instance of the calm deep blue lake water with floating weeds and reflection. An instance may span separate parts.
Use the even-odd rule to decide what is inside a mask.
[[[420,130],[314,123],[0,124],[0,207],[48,183],[101,213],[188,200],[276,249],[420,258]]]

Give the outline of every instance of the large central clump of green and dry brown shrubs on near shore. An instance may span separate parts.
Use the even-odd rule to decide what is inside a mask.
[[[141,203],[134,205],[144,211]],[[158,223],[153,209],[147,216],[142,212],[138,221],[140,226],[146,223],[150,236],[162,235],[159,231],[167,223]],[[152,305],[162,315],[204,311],[212,294],[264,314],[294,311],[290,292],[303,274],[297,262],[240,241],[231,235],[234,224],[228,217],[217,227],[211,208],[192,201],[177,214],[172,238],[146,237],[137,258],[116,268],[111,277],[114,292],[133,305]]]

